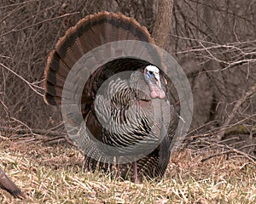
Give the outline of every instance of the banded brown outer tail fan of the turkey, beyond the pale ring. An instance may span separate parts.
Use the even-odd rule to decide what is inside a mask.
[[[62,88],[73,65],[91,49],[120,40],[154,43],[145,27],[123,14],[88,15],[69,28],[49,54],[44,71],[44,101],[49,105],[61,105]]]

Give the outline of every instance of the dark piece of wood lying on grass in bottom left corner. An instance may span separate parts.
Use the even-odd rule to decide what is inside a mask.
[[[24,193],[15,185],[15,183],[0,168],[0,188],[7,190],[15,198],[25,198]]]

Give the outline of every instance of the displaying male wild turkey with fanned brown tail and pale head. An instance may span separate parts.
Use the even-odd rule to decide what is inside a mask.
[[[80,128],[79,136],[74,136],[73,140],[84,152],[84,166],[89,171],[94,171],[96,167],[111,170],[113,161],[121,164],[134,161],[135,180],[161,178],[166,172],[172,137],[177,127],[177,112],[172,105],[168,105],[170,88],[166,86],[164,73],[148,61],[122,57],[110,59],[95,70],[82,66],[79,71],[73,71],[73,77],[69,77],[84,55],[96,52],[95,48],[108,42],[121,43],[123,40],[154,44],[145,27],[123,14],[102,12],[80,20],[61,37],[55,50],[49,54],[45,68],[44,101],[49,105],[65,102],[62,95],[65,85],[68,85],[65,92],[67,98],[78,98],[73,103],[80,105],[85,129],[76,121],[76,114],[79,113],[70,111],[63,117],[73,127]],[[131,48],[137,46],[130,41],[126,45]],[[102,55],[108,55],[113,47],[107,46]],[[114,52],[119,52],[119,49],[114,49]],[[153,55],[155,57],[157,53]],[[100,60],[98,55],[93,57],[95,59],[88,60]],[[87,82],[79,84],[78,81],[88,75]],[[77,96],[71,88],[78,90],[79,86],[83,91]],[[155,111],[158,112],[157,118]],[[164,113],[172,119],[170,122],[164,120]],[[168,134],[164,135],[164,130]],[[89,132],[93,139],[106,145],[97,146]],[[134,149],[134,144],[138,144],[137,149]]]

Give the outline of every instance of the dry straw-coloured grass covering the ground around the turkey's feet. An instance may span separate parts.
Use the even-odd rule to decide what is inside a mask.
[[[17,144],[0,139],[0,166],[26,193],[14,199],[0,190],[0,203],[255,203],[256,167],[241,157],[214,157],[189,150],[172,156],[159,183],[83,173],[83,156],[65,146]]]

